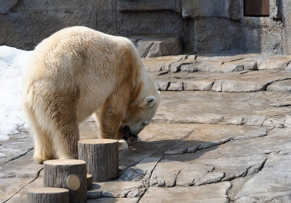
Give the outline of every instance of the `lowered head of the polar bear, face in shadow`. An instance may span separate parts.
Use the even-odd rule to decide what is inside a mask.
[[[148,95],[141,99],[136,105],[129,105],[121,128],[129,127],[129,133],[138,135],[154,117],[160,104],[160,93]]]

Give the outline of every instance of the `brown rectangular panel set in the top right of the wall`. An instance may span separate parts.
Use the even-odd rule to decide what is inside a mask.
[[[269,0],[244,0],[244,16],[270,16]]]

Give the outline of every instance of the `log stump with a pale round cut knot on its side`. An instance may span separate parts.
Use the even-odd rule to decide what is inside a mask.
[[[86,163],[76,159],[56,159],[44,162],[44,187],[69,190],[70,203],[87,201]]]

